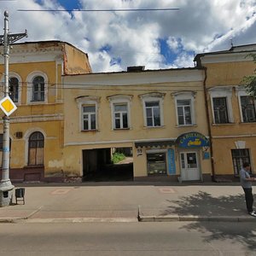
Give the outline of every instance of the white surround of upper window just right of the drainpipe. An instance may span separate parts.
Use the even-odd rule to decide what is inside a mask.
[[[210,98],[211,98],[211,106],[212,106],[212,123],[214,125],[226,125],[226,124],[234,123],[232,103],[231,103],[233,87],[234,87],[233,85],[230,85],[230,86],[215,86],[215,87],[212,87],[208,90],[208,93],[209,93]],[[213,108],[213,98],[218,98],[218,97],[225,97],[226,98],[227,112],[228,112],[228,123],[218,124],[215,121],[214,108]]]

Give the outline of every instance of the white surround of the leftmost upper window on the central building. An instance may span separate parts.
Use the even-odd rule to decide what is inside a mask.
[[[97,96],[81,96],[76,98],[76,102],[78,104],[79,108],[79,131],[98,131],[99,125],[98,125],[98,113],[99,113],[99,102],[100,97]],[[84,130],[84,106],[91,106],[95,105],[96,107],[96,129],[93,130]]]

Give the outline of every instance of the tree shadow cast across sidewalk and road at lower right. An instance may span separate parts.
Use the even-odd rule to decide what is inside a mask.
[[[170,201],[171,202],[171,201]],[[173,204],[174,203],[174,204]],[[206,216],[241,216],[247,215],[244,195],[228,195],[220,197],[212,197],[211,194],[199,191],[198,194],[183,196],[177,201],[172,201],[166,211],[166,214],[180,215],[206,215]],[[252,217],[253,218],[253,217]],[[193,222],[182,227],[189,231],[197,230],[201,233],[210,232],[211,235],[206,235],[204,240],[211,242],[212,240],[230,239],[234,243],[241,242],[250,250],[256,250],[256,218],[255,224],[244,225],[241,230],[230,229],[230,225],[225,223],[214,224],[212,222]]]

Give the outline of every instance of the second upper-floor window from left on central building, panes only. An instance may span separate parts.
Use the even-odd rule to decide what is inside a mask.
[[[114,129],[128,128],[127,103],[113,105]]]

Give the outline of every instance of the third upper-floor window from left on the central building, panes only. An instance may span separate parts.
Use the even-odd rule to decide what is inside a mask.
[[[160,126],[160,102],[145,102],[147,126]]]

